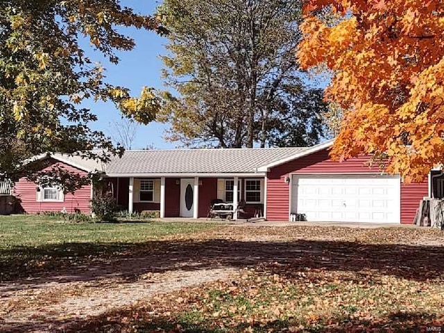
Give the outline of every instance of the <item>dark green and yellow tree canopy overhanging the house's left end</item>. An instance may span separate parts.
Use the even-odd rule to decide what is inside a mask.
[[[111,101],[124,117],[147,123],[160,100],[144,87],[139,97],[110,85],[105,69],[86,56],[85,41],[117,64],[116,51],[134,40],[119,28],[162,33],[157,19],[139,15],[119,0],[0,0],[0,170],[13,178],[25,157],[46,152],[107,160],[121,152],[101,131],[85,99]],[[87,47],[87,46],[86,46]],[[106,153],[94,153],[100,149]]]

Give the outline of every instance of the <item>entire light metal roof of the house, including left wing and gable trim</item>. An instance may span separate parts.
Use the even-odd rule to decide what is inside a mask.
[[[119,175],[196,175],[266,173],[270,168],[328,148],[333,141],[311,147],[291,148],[213,148],[126,151],[103,164],[96,160],[63,154],[42,154],[28,162],[49,156],[87,172]]]

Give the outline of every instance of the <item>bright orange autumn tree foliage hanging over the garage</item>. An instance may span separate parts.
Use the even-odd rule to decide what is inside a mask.
[[[325,99],[348,110],[332,157],[375,154],[407,182],[444,164],[444,1],[312,0],[301,29],[300,65],[330,69]]]

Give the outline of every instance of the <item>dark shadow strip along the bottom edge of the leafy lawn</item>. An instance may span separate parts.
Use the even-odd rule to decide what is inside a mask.
[[[180,316],[180,314],[178,314]],[[136,318],[135,318],[136,317]],[[133,319],[135,318],[135,319]],[[266,319],[266,318],[264,318]],[[216,319],[187,321],[174,317],[151,318],[147,313],[135,313],[131,310],[112,311],[87,320],[48,321],[42,318],[33,323],[11,323],[3,326],[2,332],[27,332],[42,330],[44,332],[441,332],[444,323],[433,314],[423,312],[393,312],[382,318],[365,320],[348,316],[325,317],[320,321],[309,323],[296,318],[239,323],[235,327],[221,328]],[[0,326],[1,327],[1,326]],[[251,327],[252,330],[249,329]],[[303,327],[303,328],[302,328]],[[302,329],[302,330],[301,330]]]

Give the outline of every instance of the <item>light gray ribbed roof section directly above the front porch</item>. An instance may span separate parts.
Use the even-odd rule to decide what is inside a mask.
[[[239,148],[126,151],[106,173],[254,173],[307,148]]]

